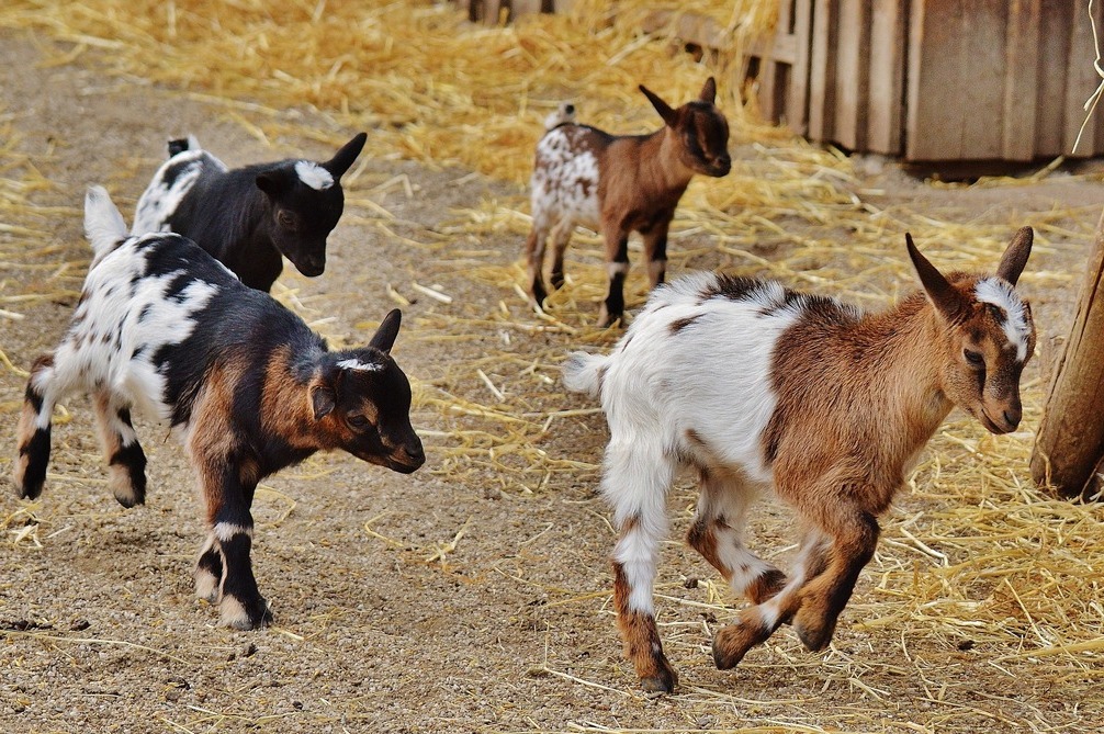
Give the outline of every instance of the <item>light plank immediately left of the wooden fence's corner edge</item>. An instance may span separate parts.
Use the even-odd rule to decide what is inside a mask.
[[[899,0],[874,0],[870,18],[867,150],[901,151],[904,113],[905,14]]]

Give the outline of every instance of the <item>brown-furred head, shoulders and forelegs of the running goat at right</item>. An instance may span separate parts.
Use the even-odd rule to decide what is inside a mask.
[[[790,618],[808,649],[828,645],[874,554],[878,515],[952,407],[992,433],[1019,424],[1019,377],[1034,350],[1033,325],[1027,357],[1018,362],[1002,350],[1008,340],[995,308],[975,298],[978,278],[944,277],[911,238],[909,246],[924,292],[862,319],[806,311],[777,342],[772,370],[777,403],[762,438],[764,454],[774,460],[778,497],[815,529],[806,543],[825,538],[829,544],[806,549],[803,583],[782,589],[769,614],[752,607],[716,635],[719,667],[736,664]],[[1015,285],[1030,246],[1030,230],[1021,230],[998,276]],[[984,371],[965,351],[985,355]],[[709,550],[708,541],[699,542]]]

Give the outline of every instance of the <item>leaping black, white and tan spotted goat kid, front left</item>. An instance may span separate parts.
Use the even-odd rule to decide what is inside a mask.
[[[195,570],[200,597],[238,629],[268,623],[250,562],[257,482],[319,450],[343,449],[404,474],[425,461],[410,422],[411,386],[391,358],[392,311],[363,348],[331,352],[267,294],[246,288],[190,240],[127,236],[107,192],[85,199],[95,251],[68,331],[31,370],[19,418],[20,497],[42,491],[54,405],[95,398],[109,486],[145,501],[146,456],[132,408],[170,424],[199,476],[211,526]]]

